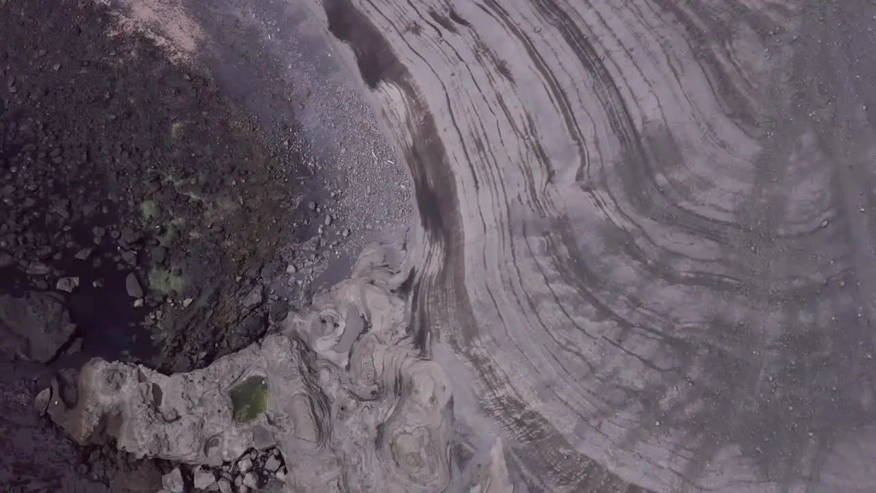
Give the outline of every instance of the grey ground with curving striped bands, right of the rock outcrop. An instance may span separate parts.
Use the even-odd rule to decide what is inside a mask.
[[[413,175],[421,349],[514,481],[876,489],[872,6],[325,9]]]

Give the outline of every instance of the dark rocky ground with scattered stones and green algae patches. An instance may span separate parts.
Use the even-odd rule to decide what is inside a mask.
[[[159,489],[160,465],[80,451],[30,399],[93,356],[204,366],[288,310],[266,286],[298,156],[112,25],[90,3],[0,0],[0,304],[51,293],[67,311],[0,306],[3,491]]]

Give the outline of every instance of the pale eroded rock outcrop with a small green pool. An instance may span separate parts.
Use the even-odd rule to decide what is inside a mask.
[[[161,375],[90,361],[78,404],[55,399],[49,412],[81,444],[112,437],[132,454],[193,465],[279,447],[292,491],[447,489],[451,385],[413,347],[407,305],[392,292],[402,278],[385,253],[369,249],[352,279],[284,332],[208,368]],[[493,454],[501,476],[500,444]]]

